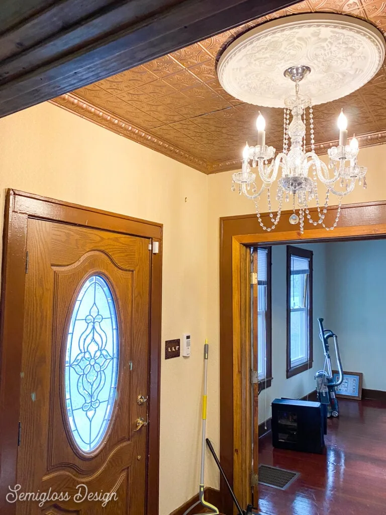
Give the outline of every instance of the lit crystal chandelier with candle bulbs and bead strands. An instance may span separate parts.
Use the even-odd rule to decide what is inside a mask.
[[[301,80],[310,73],[308,66],[292,66],[284,75],[295,83],[295,94],[285,99],[284,108],[284,134],[283,151],[275,157],[276,149],[266,145],[265,119],[259,112],[256,121],[257,145],[245,146],[242,153],[242,168],[233,174],[232,191],[235,184],[239,185],[239,194],[254,201],[259,224],[266,231],[273,230],[282,213],[283,199],[291,201],[293,213],[289,218],[290,224],[300,224],[300,232],[304,232],[305,217],[310,224],[322,225],[327,230],[334,229],[339,220],[343,197],[354,190],[354,186],[363,184],[366,187],[365,175],[367,168],[357,163],[358,140],[354,137],[347,144],[347,119],[341,111],[338,118],[339,145],[328,149],[328,166],[319,159],[315,153],[314,124],[311,99],[299,92]],[[309,151],[306,150],[307,115],[309,120]],[[290,113],[292,119],[290,122]],[[261,187],[256,185],[257,173],[261,180]],[[278,202],[277,214],[274,216],[271,204],[271,188],[280,171],[281,177],[277,181],[276,200]],[[321,207],[318,194],[318,181],[326,188],[326,196]],[[259,201],[263,194],[267,195],[271,227],[262,222]],[[330,196],[338,197],[337,215],[332,226],[325,225],[325,216]],[[309,211],[309,204],[315,201],[318,209],[318,218],[314,220]]]

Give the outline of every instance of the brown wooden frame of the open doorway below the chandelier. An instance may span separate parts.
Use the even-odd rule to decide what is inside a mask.
[[[310,209],[314,219],[315,212]],[[327,226],[334,223],[336,213],[336,207],[328,209]],[[289,224],[290,214],[282,212],[273,232],[262,231],[255,214],[220,218],[220,460],[241,506],[251,502],[252,492],[251,331],[250,317],[245,317],[250,313],[249,248],[386,237],[386,201],[343,205],[334,231],[306,222],[302,235]],[[272,224],[268,213],[262,221]],[[220,490],[223,511],[232,513],[232,499],[222,480]]]

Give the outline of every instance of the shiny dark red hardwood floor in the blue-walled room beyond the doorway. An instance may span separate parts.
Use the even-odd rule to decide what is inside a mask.
[[[287,489],[259,485],[264,515],[386,515],[386,402],[340,400],[323,455],[273,449],[259,440],[259,463],[300,472]]]

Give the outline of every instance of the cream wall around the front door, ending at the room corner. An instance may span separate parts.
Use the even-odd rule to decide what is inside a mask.
[[[0,142],[3,206],[12,187],[164,224],[162,349],[192,337],[190,358],[162,360],[160,515],[168,515],[198,491],[207,177],[48,103],[0,119]],[[214,377],[208,388],[218,394]],[[208,430],[217,435],[213,423]]]

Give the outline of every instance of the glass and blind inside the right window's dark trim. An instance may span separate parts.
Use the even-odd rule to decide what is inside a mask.
[[[309,259],[291,255],[291,367],[307,363],[309,352]]]

